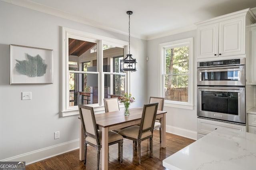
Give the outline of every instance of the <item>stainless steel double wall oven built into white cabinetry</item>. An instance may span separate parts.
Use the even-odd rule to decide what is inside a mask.
[[[197,62],[197,116],[246,124],[244,58]]]

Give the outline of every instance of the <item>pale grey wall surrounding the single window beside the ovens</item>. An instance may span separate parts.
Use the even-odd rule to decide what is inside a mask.
[[[186,38],[194,39],[194,109],[179,109],[174,107],[164,107],[164,111],[167,111],[166,114],[166,131],[174,134],[178,134],[181,136],[189,137],[196,139],[196,131],[197,131],[197,119],[196,119],[196,30],[192,30],[189,32],[184,32],[181,34],[176,34],[172,36],[167,36],[164,38],[158,38],[155,40],[148,41],[148,52],[147,55],[149,57],[148,60],[148,98],[150,96],[159,96],[160,94],[160,83],[158,77],[159,73],[159,44],[172,42],[176,40],[186,39]]]

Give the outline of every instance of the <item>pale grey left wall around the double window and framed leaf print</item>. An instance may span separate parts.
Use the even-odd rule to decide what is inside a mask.
[[[128,41],[128,36],[72,22],[0,1],[0,161],[26,164],[78,148],[78,115],[59,117],[62,87],[62,26]],[[54,83],[10,85],[9,45],[53,49]],[[141,107],[146,102],[146,41],[131,38],[131,53],[138,71],[131,75],[131,93]],[[21,92],[32,92],[32,100],[21,100]],[[102,108],[104,109],[104,108]],[[60,138],[54,140],[54,132]]]

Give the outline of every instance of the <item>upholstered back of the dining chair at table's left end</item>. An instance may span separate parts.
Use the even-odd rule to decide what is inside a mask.
[[[84,132],[84,138],[86,138],[86,136],[90,136],[96,140],[98,145],[100,145],[100,136],[98,133],[93,107],[78,105],[78,108],[81,125]]]

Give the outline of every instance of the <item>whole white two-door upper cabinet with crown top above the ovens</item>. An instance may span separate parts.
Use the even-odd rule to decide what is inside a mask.
[[[246,26],[255,22],[254,14],[246,9],[196,23],[197,58],[245,57],[246,41],[249,41]]]

